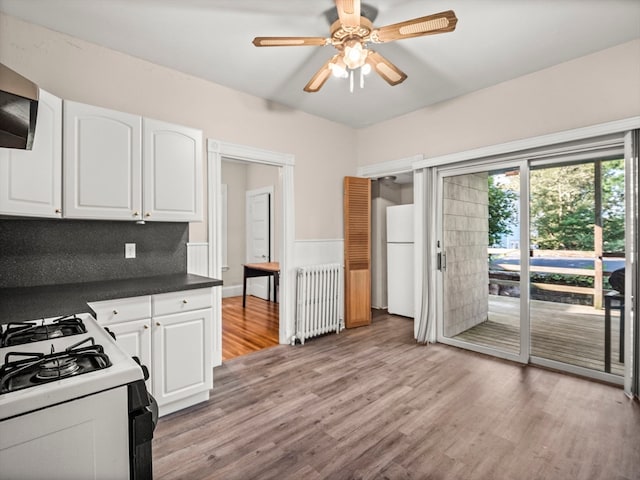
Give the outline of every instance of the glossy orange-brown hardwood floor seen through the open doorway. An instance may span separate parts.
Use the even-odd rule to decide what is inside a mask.
[[[247,295],[222,299],[222,360],[278,345],[279,304]]]

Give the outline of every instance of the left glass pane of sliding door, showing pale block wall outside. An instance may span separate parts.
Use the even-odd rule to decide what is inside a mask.
[[[520,271],[520,170],[517,164],[496,165],[445,170],[439,176],[439,340],[525,361],[522,314],[528,291]]]

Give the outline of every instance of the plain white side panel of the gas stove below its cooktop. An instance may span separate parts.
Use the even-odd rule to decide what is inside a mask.
[[[127,387],[0,422],[2,478],[129,478]]]

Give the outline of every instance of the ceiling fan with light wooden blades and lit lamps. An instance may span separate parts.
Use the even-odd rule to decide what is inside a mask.
[[[333,45],[338,53],[331,57],[304,87],[305,92],[317,92],[331,74],[346,77],[357,68],[361,74],[375,70],[389,85],[402,83],[407,75],[369,43],[387,43],[403,38],[452,32],[458,19],[452,10],[414,18],[375,28],[371,20],[361,15],[360,0],[336,0],[338,19],[332,23],[329,38],[325,37],[256,37],[256,47],[297,47]]]

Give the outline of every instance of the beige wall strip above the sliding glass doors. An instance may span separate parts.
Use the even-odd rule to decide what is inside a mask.
[[[640,40],[359,130],[358,163],[433,157],[640,115],[638,59]]]

